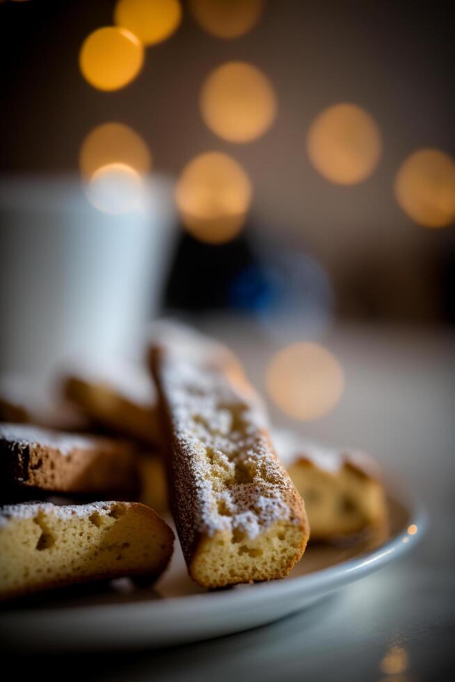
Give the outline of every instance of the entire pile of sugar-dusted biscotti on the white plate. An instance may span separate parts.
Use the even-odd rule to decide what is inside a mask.
[[[0,390],[0,416],[17,418],[0,424],[0,598],[156,579],[173,532],[154,510],[168,505],[189,575],[207,588],[284,578],[310,528],[311,539],[331,541],[385,523],[371,458],[271,431],[222,344],[154,324],[147,362],[63,376],[74,428],[91,435],[44,428]]]

